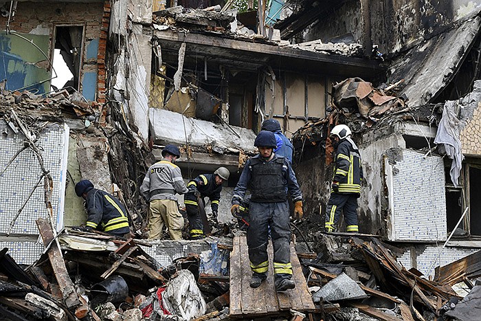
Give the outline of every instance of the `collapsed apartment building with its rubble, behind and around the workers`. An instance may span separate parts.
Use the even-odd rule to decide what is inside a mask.
[[[0,320],[476,320],[481,1],[401,2],[0,1]],[[304,201],[285,293],[272,267],[249,287],[230,214],[268,118]],[[357,234],[324,232],[335,124],[362,155]],[[145,237],[167,144],[186,182],[230,170],[203,240]],[[82,228],[81,179],[131,237]]]

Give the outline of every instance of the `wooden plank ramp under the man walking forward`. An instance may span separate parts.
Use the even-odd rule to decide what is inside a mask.
[[[245,236],[235,236],[230,254],[230,316],[254,317],[277,315],[281,311],[293,309],[300,312],[314,311],[314,303],[302,274],[293,243],[291,243],[292,280],[295,289],[276,292],[273,278],[273,249],[269,241],[269,275],[257,289],[249,286],[252,272],[249,266],[247,240]]]

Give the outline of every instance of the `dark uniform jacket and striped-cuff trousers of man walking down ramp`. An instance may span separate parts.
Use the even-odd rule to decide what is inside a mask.
[[[278,193],[280,190],[278,187],[271,186],[274,191],[269,192],[267,185],[256,186],[261,184],[262,179],[259,179],[259,177],[271,179],[274,184],[278,184],[280,178],[280,181],[282,181],[282,197]],[[247,228],[247,246],[249,247],[251,270],[254,275],[258,274],[261,278],[267,274],[269,269],[267,244],[269,243],[270,228],[274,250],[274,278],[276,282],[284,278],[289,279],[292,276],[289,250],[291,231],[289,228],[289,205],[285,199],[287,199],[288,192],[294,201],[302,199],[302,193],[291,163],[284,157],[278,157],[277,155],[273,155],[269,162],[260,155],[248,159],[238,184],[234,188],[232,204],[241,204],[247,189],[251,190],[252,195],[249,205],[249,228]],[[267,199],[262,195],[254,194],[254,192],[260,193],[260,190],[266,192],[267,195],[271,195],[271,197],[276,197],[278,200],[272,201],[272,199]],[[254,199],[255,196],[257,196],[256,199]],[[280,199],[284,199],[284,201],[280,201]]]

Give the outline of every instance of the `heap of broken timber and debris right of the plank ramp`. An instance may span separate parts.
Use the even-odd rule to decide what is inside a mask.
[[[301,264],[313,301],[325,310],[324,320],[452,320],[448,316],[456,314],[458,301],[468,293],[455,291],[455,284],[471,290],[471,298],[462,301],[463,305],[472,308],[476,304],[478,285],[460,274],[469,271],[471,278],[479,276],[475,261],[480,252],[441,267],[441,272],[438,268],[433,281],[414,268],[405,269],[396,261],[401,250],[377,237],[318,232],[315,240],[317,257],[301,258]],[[461,266],[465,269],[458,269]],[[466,313],[463,305],[459,305],[458,316]]]

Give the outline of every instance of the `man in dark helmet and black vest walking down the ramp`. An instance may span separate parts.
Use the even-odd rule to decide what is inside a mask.
[[[291,162],[273,153],[276,137],[271,131],[260,131],[254,141],[260,155],[247,159],[243,173],[232,197],[231,212],[239,217],[240,203],[247,189],[251,192],[249,205],[249,228],[247,228],[247,247],[253,272],[250,286],[259,287],[267,278],[269,257],[269,227],[273,245],[274,283],[277,291],[293,289],[291,280],[292,266],[289,243],[288,192],[295,203],[294,213],[302,218],[302,193],[295,178]]]

